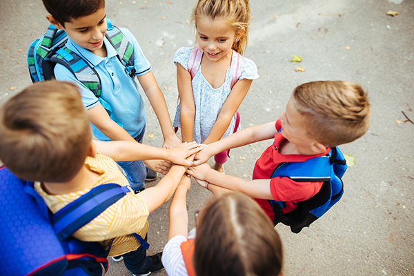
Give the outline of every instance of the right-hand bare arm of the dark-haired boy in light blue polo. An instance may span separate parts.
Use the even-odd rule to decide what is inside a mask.
[[[164,98],[164,94],[161,92],[161,89],[159,89],[154,74],[150,71],[145,75],[137,76],[137,78],[142,86],[142,89],[144,89],[152,108],[154,109],[155,115],[157,115],[159,126],[161,126],[161,132],[164,137],[163,148],[177,146],[181,143],[181,140],[172,128],[166,99]]]

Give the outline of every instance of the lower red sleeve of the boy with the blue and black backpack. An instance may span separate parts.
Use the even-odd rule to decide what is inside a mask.
[[[323,181],[297,182],[288,177],[270,179],[270,192],[276,201],[304,201],[316,195],[322,188]]]

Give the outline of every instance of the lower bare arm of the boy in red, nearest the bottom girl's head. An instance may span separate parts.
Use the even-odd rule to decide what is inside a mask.
[[[228,190],[244,193],[248,197],[273,199],[272,193],[270,192],[270,179],[245,181],[231,175],[223,175],[221,172],[217,172],[217,170],[210,168],[208,164],[190,167],[188,168],[187,173],[196,179],[207,181],[210,184],[214,184]],[[209,189],[210,184],[208,184]],[[204,186],[204,188],[206,188],[206,186]]]

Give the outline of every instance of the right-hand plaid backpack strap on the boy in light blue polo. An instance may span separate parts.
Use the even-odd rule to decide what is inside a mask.
[[[134,67],[134,48],[125,35],[119,30],[117,26],[112,25],[110,19],[106,19],[108,29],[106,30],[106,38],[118,52],[118,59],[122,65],[125,66],[126,73],[130,77],[135,76]]]

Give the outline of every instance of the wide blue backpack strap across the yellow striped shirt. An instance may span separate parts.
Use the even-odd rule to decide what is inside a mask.
[[[66,239],[129,192],[126,186],[103,184],[72,201],[51,217],[57,237]]]

